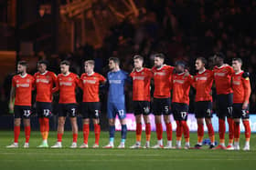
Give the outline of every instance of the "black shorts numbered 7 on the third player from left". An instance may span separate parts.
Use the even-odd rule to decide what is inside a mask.
[[[58,106],[58,115],[75,117],[77,116],[78,105],[77,104],[59,104]]]

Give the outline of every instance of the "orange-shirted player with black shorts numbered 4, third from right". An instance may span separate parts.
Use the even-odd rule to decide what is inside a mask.
[[[197,118],[197,145],[195,148],[200,149],[204,137],[204,122],[208,127],[208,136],[210,139],[209,149],[215,146],[215,136],[212,118],[212,96],[211,87],[213,84],[213,72],[206,69],[207,60],[204,57],[197,57],[196,70],[197,75],[194,76],[193,86],[196,89],[195,97],[195,115]]]

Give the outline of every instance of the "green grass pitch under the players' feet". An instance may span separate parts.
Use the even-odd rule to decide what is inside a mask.
[[[226,135],[228,137],[228,135]],[[48,143],[54,145],[57,133],[50,132]],[[205,137],[208,137],[207,133]],[[197,134],[191,133],[191,145],[195,145]],[[216,134],[218,140],[218,135]],[[144,135],[143,135],[144,139]],[[164,141],[166,139],[164,132]],[[0,169],[17,170],[74,170],[74,169],[197,169],[197,170],[219,170],[219,169],[256,169],[256,134],[251,135],[251,151],[222,151],[181,149],[128,149],[135,141],[135,133],[128,132],[126,149],[70,149],[72,134],[65,132],[63,135],[63,146],[61,149],[37,148],[41,142],[39,132],[33,131],[30,138],[30,148],[22,148],[24,144],[24,132],[19,139],[20,148],[7,149],[13,141],[12,131],[0,131]],[[93,145],[94,133],[91,132],[89,145]],[[226,140],[228,141],[228,140]],[[108,133],[101,132],[100,145],[108,144]],[[119,145],[120,132],[116,132],[115,145]],[[144,140],[142,141],[144,145]],[[156,136],[152,132],[151,145],[155,145]],[[175,142],[175,133],[174,133]],[[82,133],[79,135],[79,145],[82,143]],[[184,141],[183,141],[184,145]],[[244,145],[244,135],[241,134],[240,147]]]

